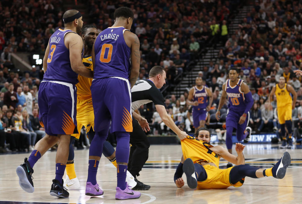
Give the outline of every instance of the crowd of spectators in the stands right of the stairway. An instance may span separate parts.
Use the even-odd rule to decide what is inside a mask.
[[[214,92],[212,108],[217,108],[222,84],[228,78],[230,67],[235,66],[239,70],[239,78],[249,85],[253,94],[249,126],[254,133],[276,131],[278,135],[276,97],[270,104],[268,96],[279,77],[284,76],[287,84],[293,86],[298,94],[292,116],[297,132],[302,119],[302,88],[301,77],[293,71],[302,68],[301,23],[302,4],[297,1],[256,1],[234,34],[228,38],[222,34],[218,36],[217,43],[222,43],[223,47],[219,48],[217,58],[199,71],[204,85]],[[211,120],[209,117],[208,124],[214,122],[215,117]],[[186,127],[186,118],[182,121]]]

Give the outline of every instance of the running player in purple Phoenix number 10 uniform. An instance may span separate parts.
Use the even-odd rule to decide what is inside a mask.
[[[238,141],[245,139],[249,141],[251,133],[247,127],[249,121],[249,110],[253,106],[254,100],[248,85],[238,79],[238,69],[232,67],[229,71],[229,79],[222,85],[222,95],[219,101],[216,119],[220,120],[220,109],[228,97],[228,113],[226,116],[226,148],[232,154],[232,133],[237,129],[236,136]],[[245,129],[248,131],[244,132]],[[231,166],[228,164],[228,166]]]

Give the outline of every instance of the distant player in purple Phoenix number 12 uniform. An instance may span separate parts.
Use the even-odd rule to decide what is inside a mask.
[[[207,88],[202,85],[202,78],[196,77],[195,79],[196,86],[190,89],[187,103],[192,105],[192,116],[193,116],[193,126],[196,130],[200,127],[204,127],[205,120],[208,116],[208,111],[213,102],[213,94],[210,88]],[[209,104],[208,96],[210,97]],[[192,101],[193,99],[193,101]]]

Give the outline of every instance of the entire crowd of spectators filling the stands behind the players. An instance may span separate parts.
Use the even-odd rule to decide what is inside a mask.
[[[266,127],[278,130],[276,101],[272,105],[266,101],[280,76],[284,76],[298,93],[296,108],[293,110],[294,121],[297,121],[295,125],[298,126],[297,123],[302,119],[301,77],[297,78],[293,70],[302,68],[302,5],[297,1],[255,1],[237,30],[230,35],[229,18],[238,9],[239,3],[240,1],[210,0],[90,0],[86,2],[88,12],[84,15],[87,17],[84,21],[86,24],[95,24],[102,31],[113,25],[116,8],[130,7],[134,12],[131,31],[137,34],[141,42],[138,79],[147,79],[148,71],[154,65],[161,65],[167,73],[167,84],[177,83],[176,76],[189,71],[194,60],[199,59],[201,48],[213,39],[213,47],[218,48],[219,53],[198,74],[213,91],[212,109],[217,108],[228,69],[236,66],[240,70],[239,77],[249,85],[253,93],[255,104],[251,110],[250,125],[254,131],[266,130]],[[6,136],[6,142],[10,144],[10,150],[31,150],[34,140],[43,136],[41,132],[36,132],[43,131],[39,124],[33,127],[38,111],[37,91],[43,72],[35,68],[27,73],[16,72],[11,62],[11,53],[44,53],[51,34],[58,28],[63,28],[62,5],[63,2],[59,0],[3,0],[0,3],[0,17],[3,19],[0,22],[0,133],[9,135],[9,139]],[[220,44],[223,46],[218,46]],[[10,91],[12,89],[14,91]],[[29,94],[32,95],[31,103],[28,101]],[[172,95],[165,104],[176,125],[190,131],[191,107],[186,105],[186,99],[187,92],[178,99]],[[154,111],[154,106],[144,105],[139,111],[152,124],[151,133],[169,133]],[[22,125],[17,121],[21,121]],[[207,124],[210,122],[209,117]],[[19,129],[9,128],[11,125],[17,125]],[[20,142],[22,140],[19,138],[23,138],[25,142]],[[5,149],[2,140],[0,146]]]

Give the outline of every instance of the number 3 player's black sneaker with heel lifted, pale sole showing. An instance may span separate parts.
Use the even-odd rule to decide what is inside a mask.
[[[16,173],[19,177],[19,185],[21,188],[27,193],[33,193],[35,189],[31,174],[34,173],[34,170],[31,168],[27,158],[24,159],[23,164],[16,168]]]

